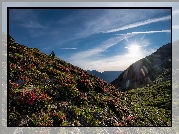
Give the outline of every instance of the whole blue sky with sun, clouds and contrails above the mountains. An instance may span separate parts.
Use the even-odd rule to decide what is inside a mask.
[[[83,69],[123,71],[171,42],[171,11],[10,9],[9,34]]]

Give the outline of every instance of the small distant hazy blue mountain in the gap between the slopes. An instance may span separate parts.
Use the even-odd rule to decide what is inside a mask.
[[[110,83],[112,82],[114,79],[116,79],[121,73],[122,71],[104,71],[104,72],[98,72],[96,70],[87,70],[88,73],[93,74],[97,77],[99,77],[100,79],[105,80],[106,82]]]

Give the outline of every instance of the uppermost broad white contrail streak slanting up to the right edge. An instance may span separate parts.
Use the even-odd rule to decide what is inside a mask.
[[[107,30],[104,33],[117,32],[117,31],[129,29],[129,28],[135,28],[135,27],[138,27],[138,26],[151,24],[151,23],[154,23],[154,22],[166,21],[166,20],[169,20],[169,19],[171,19],[170,15],[165,16],[165,17],[161,17],[161,18],[148,19],[148,20],[145,20],[145,21],[140,21],[140,22],[137,22],[137,23],[126,25],[126,26],[123,26],[123,27],[120,27],[120,28],[115,28],[115,29]]]

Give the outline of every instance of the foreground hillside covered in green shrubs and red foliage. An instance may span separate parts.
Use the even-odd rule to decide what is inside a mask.
[[[7,126],[171,126],[170,80],[121,92],[55,54],[8,40]]]

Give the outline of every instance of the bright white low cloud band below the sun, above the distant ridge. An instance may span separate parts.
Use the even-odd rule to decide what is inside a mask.
[[[78,65],[83,69],[98,70],[100,72],[104,70],[109,71],[123,71],[132,63],[144,58],[155,52],[155,49],[145,50],[142,49],[137,55],[131,55],[130,53],[116,55],[105,59],[95,60],[94,58],[78,59],[71,61],[70,63]]]

